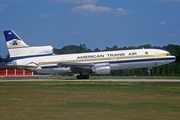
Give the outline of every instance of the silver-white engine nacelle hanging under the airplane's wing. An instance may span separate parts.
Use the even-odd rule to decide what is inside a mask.
[[[93,72],[98,75],[110,74],[110,66],[95,67]]]

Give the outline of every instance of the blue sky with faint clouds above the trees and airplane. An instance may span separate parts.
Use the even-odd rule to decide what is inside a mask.
[[[105,49],[180,44],[180,0],[1,0],[0,55],[4,30],[28,45],[85,44]]]

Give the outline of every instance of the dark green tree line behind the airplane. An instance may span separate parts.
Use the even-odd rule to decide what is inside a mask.
[[[106,47],[104,50],[95,48],[91,50],[86,47],[85,44],[80,45],[67,45],[61,49],[54,48],[55,54],[70,54],[70,53],[84,53],[84,52],[100,52],[100,51],[113,51],[113,50],[129,50],[129,49],[142,49],[142,48],[153,48],[162,49],[170,52],[172,55],[176,56],[176,61],[167,65],[154,67],[151,69],[151,75],[153,76],[179,76],[180,75],[180,46],[169,44],[167,46],[152,46],[150,44],[140,45],[140,46],[125,46],[118,47],[114,45],[113,47]],[[7,55],[8,56],[8,55]],[[0,62],[3,62],[6,58],[0,56]],[[139,69],[127,69],[127,70],[114,70],[111,71],[112,76],[146,76],[148,74],[147,68]]]

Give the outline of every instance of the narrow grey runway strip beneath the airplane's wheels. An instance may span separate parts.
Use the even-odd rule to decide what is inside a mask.
[[[63,80],[63,79],[12,79],[3,80],[0,82],[180,82],[180,79],[81,79],[81,80]]]

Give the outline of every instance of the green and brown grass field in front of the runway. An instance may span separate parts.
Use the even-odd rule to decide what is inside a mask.
[[[0,83],[0,120],[179,120],[180,83]]]

